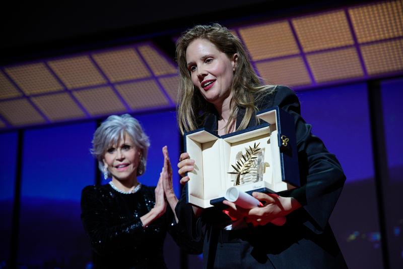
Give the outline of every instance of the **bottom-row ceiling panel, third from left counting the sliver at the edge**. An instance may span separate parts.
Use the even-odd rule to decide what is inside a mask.
[[[85,113],[68,93],[32,97],[32,101],[51,121],[85,117]]]

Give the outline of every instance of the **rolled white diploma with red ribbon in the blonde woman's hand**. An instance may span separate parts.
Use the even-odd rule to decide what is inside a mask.
[[[240,191],[235,187],[228,188],[224,198],[245,209],[251,209],[253,207],[258,207],[259,205],[262,205],[261,202],[255,197],[247,194],[246,192]],[[274,219],[273,221],[271,221],[271,223],[282,226],[286,223],[286,217]]]

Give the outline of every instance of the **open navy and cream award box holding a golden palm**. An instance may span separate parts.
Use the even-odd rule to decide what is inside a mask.
[[[185,133],[185,150],[195,161],[187,174],[188,203],[222,204],[230,187],[251,194],[300,186],[294,118],[278,106],[257,117],[260,125],[221,137],[205,129]]]

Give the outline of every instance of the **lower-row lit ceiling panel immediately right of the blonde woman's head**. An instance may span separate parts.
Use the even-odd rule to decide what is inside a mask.
[[[256,63],[259,75],[267,84],[308,85],[309,74],[301,57]],[[290,76],[292,74],[292,76]]]

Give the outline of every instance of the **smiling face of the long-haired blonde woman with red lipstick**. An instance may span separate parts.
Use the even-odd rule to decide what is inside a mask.
[[[207,39],[195,39],[187,46],[186,64],[193,85],[214,105],[231,95],[237,54],[231,58]]]

